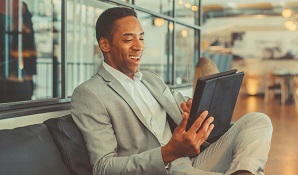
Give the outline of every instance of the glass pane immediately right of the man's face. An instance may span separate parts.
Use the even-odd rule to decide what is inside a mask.
[[[145,50],[141,69],[158,73],[167,84],[172,84],[173,22],[139,12],[138,17],[145,32]]]

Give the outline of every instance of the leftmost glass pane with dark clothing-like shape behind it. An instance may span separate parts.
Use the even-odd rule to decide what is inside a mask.
[[[0,3],[0,103],[58,97],[61,2]]]

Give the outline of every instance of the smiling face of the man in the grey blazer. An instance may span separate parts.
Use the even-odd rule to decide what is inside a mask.
[[[105,62],[113,68],[133,78],[140,70],[144,49],[144,32],[137,18],[133,16],[118,19],[115,23],[113,39],[105,54]]]

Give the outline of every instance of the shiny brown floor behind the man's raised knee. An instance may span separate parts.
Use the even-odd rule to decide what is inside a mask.
[[[266,165],[266,175],[298,174],[298,105],[281,105],[280,98],[264,103],[263,96],[238,99],[233,121],[247,112],[267,114],[273,124],[272,145]]]

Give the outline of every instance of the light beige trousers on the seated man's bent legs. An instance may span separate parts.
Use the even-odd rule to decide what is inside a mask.
[[[264,174],[271,145],[272,123],[263,113],[241,117],[216,142],[190,160],[172,162],[172,175],[230,175],[238,170]]]

